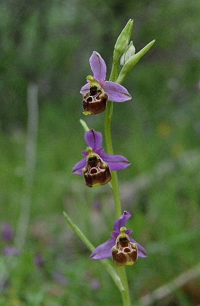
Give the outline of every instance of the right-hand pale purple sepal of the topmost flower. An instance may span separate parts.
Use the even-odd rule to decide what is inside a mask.
[[[108,94],[108,100],[112,102],[125,102],[132,98],[124,86],[115,82],[105,81],[103,90]]]

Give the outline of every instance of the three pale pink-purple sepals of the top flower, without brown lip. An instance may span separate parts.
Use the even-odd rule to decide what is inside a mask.
[[[108,94],[108,100],[111,102],[125,102],[130,100],[132,97],[126,90],[126,88],[119,83],[112,81],[105,81],[106,77],[106,65],[103,58],[97,51],[93,51],[90,59],[90,67],[94,74],[94,79],[96,79],[105,93]],[[80,94],[86,94],[89,92],[89,83],[87,83],[81,88]]]

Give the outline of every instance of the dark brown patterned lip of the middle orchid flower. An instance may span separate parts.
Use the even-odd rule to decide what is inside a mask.
[[[88,187],[105,185],[111,180],[109,165],[103,162],[97,154],[87,158],[87,165],[82,169],[82,171],[85,183]]]

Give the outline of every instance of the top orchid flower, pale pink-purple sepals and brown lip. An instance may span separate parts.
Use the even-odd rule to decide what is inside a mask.
[[[105,81],[106,65],[97,51],[93,51],[90,59],[93,75],[86,77],[87,82],[80,90],[83,94],[83,109],[85,115],[97,115],[106,108],[107,100],[111,102],[125,102],[131,95],[124,86],[111,81]]]

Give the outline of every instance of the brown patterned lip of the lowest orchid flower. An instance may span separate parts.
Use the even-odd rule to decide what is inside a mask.
[[[117,243],[112,247],[112,259],[118,266],[131,266],[137,262],[137,244],[130,242],[128,235],[118,236]]]

